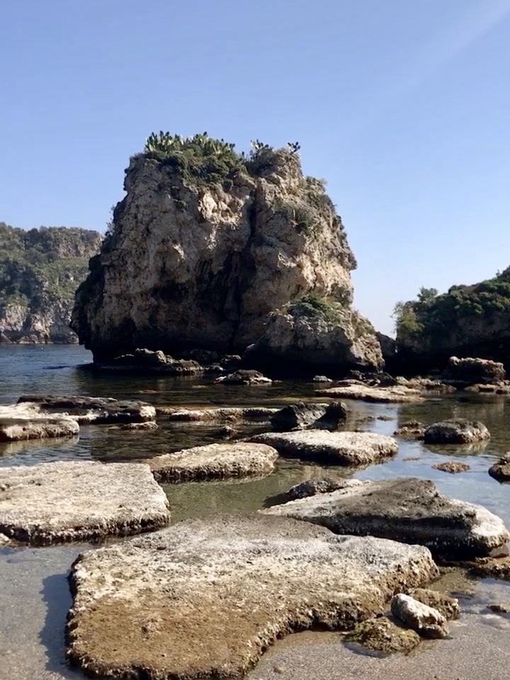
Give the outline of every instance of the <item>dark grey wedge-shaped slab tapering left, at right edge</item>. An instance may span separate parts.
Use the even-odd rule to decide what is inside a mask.
[[[327,526],[335,533],[426,545],[458,560],[488,555],[510,538],[502,519],[481,505],[441,495],[414,477],[368,482],[261,511]]]

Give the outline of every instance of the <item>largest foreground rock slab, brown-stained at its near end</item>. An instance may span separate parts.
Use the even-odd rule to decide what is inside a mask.
[[[281,517],[184,521],[81,553],[68,656],[113,678],[233,679],[277,638],[350,628],[437,574],[418,545]]]

